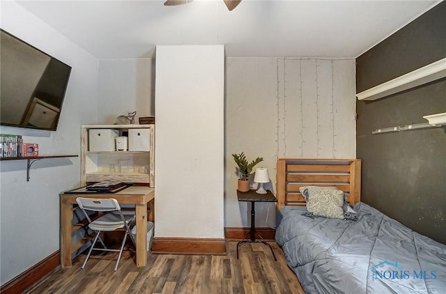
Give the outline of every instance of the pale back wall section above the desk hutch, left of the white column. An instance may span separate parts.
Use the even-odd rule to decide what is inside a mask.
[[[153,59],[101,59],[97,123],[113,124],[135,110],[134,123],[154,116],[154,69]]]

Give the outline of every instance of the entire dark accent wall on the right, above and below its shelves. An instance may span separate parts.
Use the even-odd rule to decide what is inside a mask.
[[[446,2],[357,58],[357,92],[446,57]],[[446,112],[446,79],[357,101],[362,201],[446,244],[446,127],[371,134]]]

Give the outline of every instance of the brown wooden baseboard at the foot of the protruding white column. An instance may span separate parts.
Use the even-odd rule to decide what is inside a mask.
[[[226,254],[226,240],[206,238],[153,238],[155,254]]]

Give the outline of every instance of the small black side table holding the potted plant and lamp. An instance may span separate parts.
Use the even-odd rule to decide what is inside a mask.
[[[259,242],[263,243],[264,245],[267,245],[271,249],[272,256],[274,256],[274,260],[277,261],[277,258],[272,251],[271,245],[269,245],[267,242],[261,240],[256,240],[256,210],[254,208],[254,205],[256,202],[277,202],[277,199],[272,194],[271,191],[267,190],[266,194],[257,194],[256,190],[252,189],[248,192],[239,192],[237,191],[237,197],[238,201],[249,201],[251,202],[251,229],[249,230],[249,239],[243,239],[240,242],[237,243],[237,259],[238,259],[238,247],[245,243],[253,243],[253,242]],[[259,235],[261,238],[261,235]]]

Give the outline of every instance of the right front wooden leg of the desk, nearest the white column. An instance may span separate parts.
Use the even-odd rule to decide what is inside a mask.
[[[147,204],[136,206],[137,266],[147,263]]]

